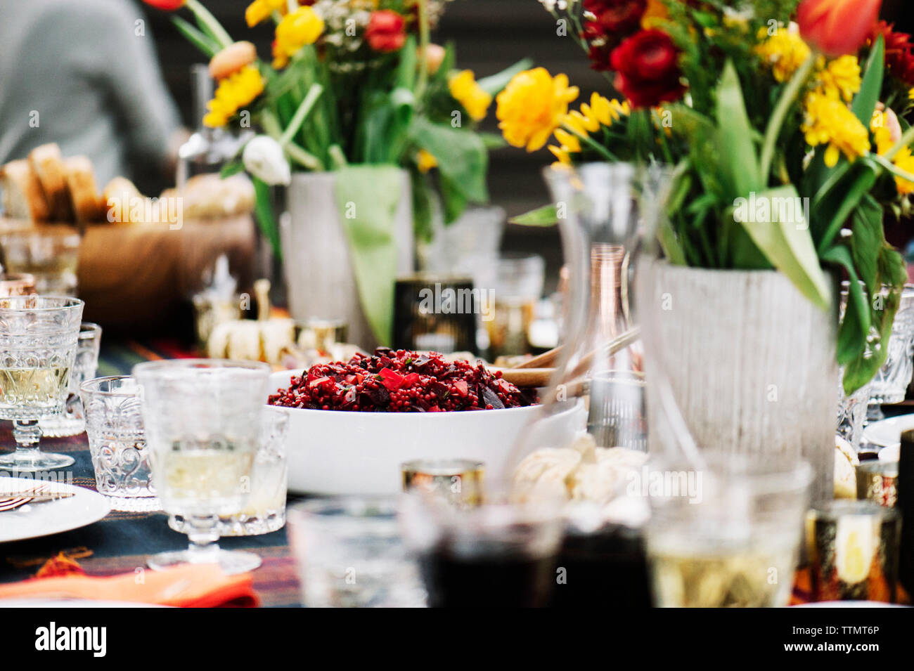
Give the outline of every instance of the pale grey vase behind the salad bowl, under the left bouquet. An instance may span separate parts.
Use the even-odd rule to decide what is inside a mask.
[[[413,267],[412,196],[402,173],[395,215],[398,274]],[[344,320],[347,340],[372,351],[377,340],[362,309],[335,198],[337,173],[293,173],[280,222],[282,257],[295,320]],[[393,291],[393,288],[391,288]]]

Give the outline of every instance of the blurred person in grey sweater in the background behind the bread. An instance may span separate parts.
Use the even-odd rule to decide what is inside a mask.
[[[0,0],[0,164],[57,142],[104,184],[173,171],[181,136],[138,5]]]

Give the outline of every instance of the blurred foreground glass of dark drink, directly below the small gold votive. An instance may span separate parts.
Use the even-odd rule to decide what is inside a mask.
[[[491,489],[472,508],[418,490],[405,495],[404,538],[418,558],[429,607],[547,606],[557,580],[563,504]]]

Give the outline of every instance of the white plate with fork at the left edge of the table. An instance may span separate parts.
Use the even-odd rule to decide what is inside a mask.
[[[79,529],[97,522],[112,510],[108,500],[91,489],[57,482],[48,484],[55,491],[72,492],[75,496],[0,512],[0,543]],[[35,480],[27,477],[0,477],[0,496],[34,485]]]

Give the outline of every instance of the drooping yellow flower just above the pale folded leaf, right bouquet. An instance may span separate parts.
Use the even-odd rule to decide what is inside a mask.
[[[843,153],[848,161],[854,161],[869,151],[869,133],[854,112],[841,100],[834,100],[818,91],[806,96],[805,119],[801,130],[811,147],[827,144],[825,165],[829,168],[838,163]]]

